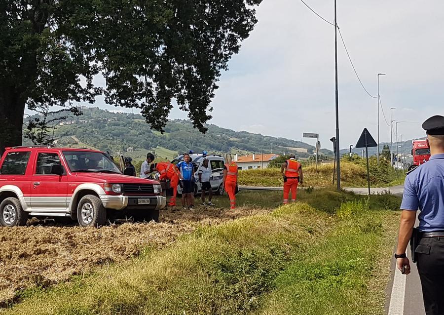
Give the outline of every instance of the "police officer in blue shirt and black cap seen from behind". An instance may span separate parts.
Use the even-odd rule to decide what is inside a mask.
[[[417,245],[413,248],[421,279],[427,315],[444,314],[444,117],[433,116],[422,124],[427,131],[431,157],[407,173],[401,204],[402,215],[397,267],[410,273],[406,248],[419,209]]]

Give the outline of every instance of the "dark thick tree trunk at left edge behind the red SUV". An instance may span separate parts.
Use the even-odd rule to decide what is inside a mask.
[[[0,86],[0,153],[5,147],[22,145],[26,101],[10,86]]]

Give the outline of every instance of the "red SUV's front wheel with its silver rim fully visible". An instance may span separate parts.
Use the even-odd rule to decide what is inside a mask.
[[[77,220],[82,227],[98,227],[107,221],[107,211],[99,197],[86,195],[77,205]]]

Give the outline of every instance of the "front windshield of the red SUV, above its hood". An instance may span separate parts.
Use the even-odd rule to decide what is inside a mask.
[[[108,156],[100,152],[63,151],[63,155],[72,172],[122,173]]]

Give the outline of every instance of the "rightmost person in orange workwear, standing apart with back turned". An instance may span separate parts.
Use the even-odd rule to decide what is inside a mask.
[[[284,177],[284,204],[288,203],[290,191],[292,192],[292,202],[296,201],[297,184],[303,182],[302,168],[295,155],[282,163],[282,176]]]

